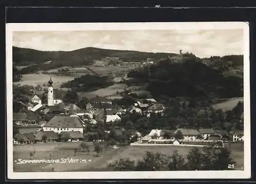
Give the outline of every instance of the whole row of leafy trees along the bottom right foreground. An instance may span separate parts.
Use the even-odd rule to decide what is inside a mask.
[[[141,160],[115,160],[108,168],[113,171],[208,171],[232,170],[235,164],[227,148],[214,145],[201,150],[192,148],[186,156],[180,155],[177,150],[170,156],[147,151]],[[228,167],[230,165],[234,167]]]

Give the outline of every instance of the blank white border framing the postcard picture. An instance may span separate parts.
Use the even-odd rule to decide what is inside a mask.
[[[12,146],[12,32],[82,30],[244,30],[244,170],[243,171],[148,171],[148,172],[13,172]],[[250,178],[250,74],[248,22],[136,22],[136,23],[7,23],[7,163],[9,179],[206,179]]]

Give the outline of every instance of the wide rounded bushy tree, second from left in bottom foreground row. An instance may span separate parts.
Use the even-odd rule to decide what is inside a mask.
[[[166,170],[168,158],[160,152],[147,151],[142,160],[138,160],[137,171],[159,171]]]

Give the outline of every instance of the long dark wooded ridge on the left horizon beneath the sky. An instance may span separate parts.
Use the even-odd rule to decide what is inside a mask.
[[[62,65],[90,65],[94,59],[105,57],[118,57],[122,61],[141,62],[147,58],[161,59],[177,55],[172,53],[113,50],[94,47],[86,47],[73,51],[40,51],[19,47],[13,47],[12,49],[13,63],[17,66],[39,64],[47,61],[53,61],[54,64],[61,63]]]

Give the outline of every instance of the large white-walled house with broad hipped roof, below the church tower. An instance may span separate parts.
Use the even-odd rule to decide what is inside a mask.
[[[76,116],[54,116],[42,127],[42,129],[45,132],[53,131],[55,133],[65,131],[78,131],[83,133],[82,122]]]

